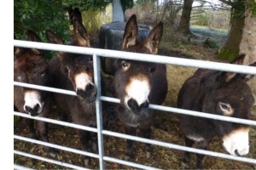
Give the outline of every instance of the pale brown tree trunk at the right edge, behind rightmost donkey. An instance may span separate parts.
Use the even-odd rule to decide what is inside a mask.
[[[252,14],[251,5],[249,1],[246,1],[245,26],[240,43],[240,54],[247,54],[244,65],[256,61],[256,16]],[[253,89],[253,94],[256,94],[256,76],[249,82],[249,85]]]

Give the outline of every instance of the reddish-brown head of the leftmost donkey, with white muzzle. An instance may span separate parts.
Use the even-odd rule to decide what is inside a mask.
[[[27,31],[27,39],[32,42],[41,42],[38,35]],[[34,48],[16,48],[14,63],[14,79],[17,82],[26,82],[46,86],[48,63],[44,55]],[[43,111],[45,92],[32,88],[20,88],[20,94],[24,99],[24,111],[31,116],[37,116]]]

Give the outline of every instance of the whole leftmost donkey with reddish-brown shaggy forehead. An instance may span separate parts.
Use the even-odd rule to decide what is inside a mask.
[[[28,30],[27,39],[32,42],[41,42],[40,37]],[[49,86],[48,62],[44,54],[35,48],[15,48],[14,80],[42,86]],[[45,91],[32,88],[14,88],[15,111],[26,112],[31,116],[48,116],[49,95]],[[24,119],[32,139],[38,139],[32,119]],[[38,122],[38,131],[44,142],[49,142],[46,122]],[[45,147],[49,156],[55,156],[55,150]]]

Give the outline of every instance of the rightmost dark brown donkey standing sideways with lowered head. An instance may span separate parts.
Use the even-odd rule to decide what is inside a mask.
[[[245,54],[240,54],[231,64],[241,65]],[[256,66],[256,62],[251,66]],[[250,119],[253,94],[247,81],[253,76],[226,71],[198,69],[184,82],[177,97],[177,107],[202,111],[220,116]],[[249,152],[249,127],[234,122],[223,122],[195,116],[180,116],[181,129],[185,135],[185,145],[191,147],[195,142],[206,150],[214,136],[223,140],[224,149],[230,155],[244,156]],[[202,168],[204,155],[196,154],[196,168]],[[186,167],[190,158],[184,152],[182,166]]]

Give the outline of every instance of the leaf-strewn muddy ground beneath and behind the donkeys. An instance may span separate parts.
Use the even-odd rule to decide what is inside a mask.
[[[195,34],[197,34],[197,37],[192,37],[190,39],[190,42],[186,42],[186,40],[184,40],[186,38],[182,39],[175,36],[166,36],[160,43],[159,54],[167,56],[177,56],[177,54],[173,53],[173,51],[182,51],[183,54],[186,55],[180,55],[179,57],[219,61],[218,59],[216,59],[218,48],[209,48],[207,45],[204,46],[204,41],[206,41],[207,39],[206,35],[204,35],[203,33],[200,34],[200,31],[196,32]],[[214,42],[213,37],[212,41]],[[221,38],[223,38],[222,41],[224,41],[226,37],[222,35]],[[195,72],[195,70],[195,68],[190,67],[167,65],[168,94],[166,101],[163,105],[176,107],[177,93],[179,89],[183,85],[183,82],[188,77],[190,77]],[[53,119],[59,119],[56,112],[57,111],[55,110],[55,108],[53,108],[52,115],[50,117]],[[253,116],[253,120],[256,120],[256,116]],[[15,123],[14,129],[15,134],[19,134],[21,136],[28,136],[28,130],[22,121]],[[109,122],[108,127],[105,127],[105,129],[119,133],[125,132],[122,123],[116,119],[113,119],[111,122]],[[155,116],[154,127],[152,127],[152,130],[152,139],[172,144],[183,145],[183,133],[180,131],[178,116],[175,113],[158,111]],[[140,136],[139,132],[138,136]],[[74,149],[80,149],[78,135],[76,134],[75,129],[71,127],[61,127],[59,125],[49,124],[49,141],[53,144],[61,144]],[[105,156],[110,156],[124,160],[125,144],[125,139],[119,139],[104,135]],[[15,150],[26,151],[37,156],[49,157],[44,152],[44,149],[41,145],[20,142],[20,140],[16,139],[14,140],[14,145]],[[181,159],[183,156],[183,151],[173,150],[157,145],[153,145],[152,147],[154,149],[154,152],[151,157],[147,158],[146,152],[144,151],[145,145],[143,143],[135,142],[135,157],[131,159],[131,161],[162,169],[181,168]],[[209,145],[209,150],[226,153],[226,151],[222,147],[222,142],[217,137],[213,139],[212,143]],[[67,167],[57,166],[55,164],[50,164],[45,161],[37,161],[24,156],[15,155],[14,157],[15,164],[23,165],[26,167],[32,167],[36,169],[68,169]],[[247,155],[247,157],[254,159],[256,158],[255,127],[252,127],[252,130],[250,132],[250,153]],[[78,154],[72,154],[70,152],[63,150],[59,150],[58,155],[55,156],[55,160],[67,162],[81,167],[84,166],[83,156]],[[213,156],[206,156],[203,164],[206,169],[256,169],[256,166],[250,163],[245,163],[241,161],[231,161]],[[193,169],[194,167],[195,154],[192,154],[188,168]],[[98,169],[98,161],[96,159],[92,159],[89,168]],[[106,169],[137,168],[127,167],[118,163],[106,161]]]

